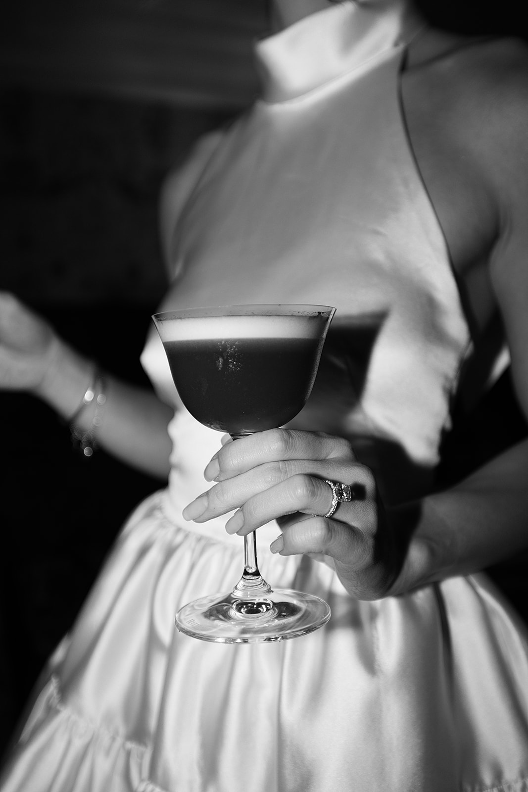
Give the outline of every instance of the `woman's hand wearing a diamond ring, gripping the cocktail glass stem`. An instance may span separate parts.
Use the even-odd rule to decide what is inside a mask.
[[[211,459],[205,478],[215,485],[184,510],[203,523],[237,509],[230,534],[248,534],[277,520],[281,555],[325,554],[353,596],[376,600],[393,593],[401,568],[393,531],[378,498],[374,476],[359,464],[347,440],[319,432],[270,429],[231,441]],[[331,517],[332,488],[351,485],[353,500]]]

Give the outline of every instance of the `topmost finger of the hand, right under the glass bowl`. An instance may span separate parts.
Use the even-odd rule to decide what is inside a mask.
[[[355,459],[348,440],[324,432],[301,432],[297,429],[268,429],[226,443],[204,470],[208,482],[251,470],[257,465],[286,459]]]

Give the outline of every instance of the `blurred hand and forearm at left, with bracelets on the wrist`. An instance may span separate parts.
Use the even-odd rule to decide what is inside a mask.
[[[91,427],[95,404],[83,406],[94,364],[13,295],[0,292],[0,388],[25,390],[64,421]],[[149,388],[123,383],[104,372],[106,402],[97,443],[127,465],[165,479],[169,473],[167,424],[173,409]],[[79,408],[82,408],[79,412]]]

